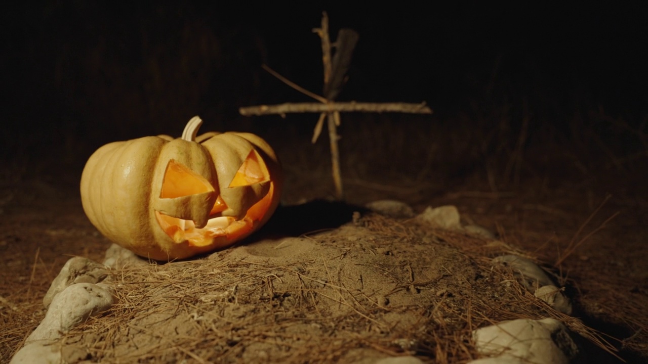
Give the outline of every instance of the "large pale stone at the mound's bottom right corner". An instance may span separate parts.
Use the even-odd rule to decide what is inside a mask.
[[[556,319],[502,321],[474,330],[472,337],[480,354],[496,358],[480,364],[568,364],[578,354],[567,328]]]

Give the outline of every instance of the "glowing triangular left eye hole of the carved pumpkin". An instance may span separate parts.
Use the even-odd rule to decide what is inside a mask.
[[[160,198],[176,198],[212,192],[214,187],[205,177],[196,174],[191,168],[171,159],[162,180]]]

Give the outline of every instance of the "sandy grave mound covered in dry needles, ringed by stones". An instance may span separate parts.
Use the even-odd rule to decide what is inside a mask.
[[[599,332],[533,297],[512,271],[492,269],[492,256],[524,254],[520,249],[376,214],[359,224],[309,236],[322,248],[290,263],[235,249],[114,270],[119,303],[67,334],[65,344],[108,362],[330,363],[415,355],[462,363],[478,358],[475,328],[553,317],[614,354]],[[434,252],[434,266],[417,260],[417,247]],[[363,260],[364,254],[378,258]],[[358,264],[370,267],[349,268]],[[426,269],[441,273],[426,279]],[[372,286],[369,275],[382,277],[382,287]]]

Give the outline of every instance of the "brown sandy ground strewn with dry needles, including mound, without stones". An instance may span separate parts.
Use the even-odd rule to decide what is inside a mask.
[[[108,362],[304,356],[325,362],[415,354],[461,362],[474,357],[470,328],[548,315],[528,300],[520,304],[524,293],[503,286],[489,269],[491,256],[526,249],[566,286],[575,317],[600,330],[619,357],[640,360],[647,353],[648,249],[641,223],[647,205],[617,190],[596,210],[605,194],[594,183],[586,187],[564,183],[549,193],[529,181],[495,193],[472,183],[425,196],[417,188],[351,181],[351,203],[284,207],[267,229],[233,249],[115,271],[128,287],[118,290],[121,304],[69,334],[76,349],[67,355]],[[284,201],[317,194],[326,192],[292,190]],[[505,245],[487,249],[483,238],[368,212],[353,221],[359,205],[382,198],[406,201],[417,212],[456,205],[463,223],[496,231]],[[65,261],[75,255],[102,261],[110,242],[87,222],[74,174],[57,182],[5,183],[2,209],[6,361],[42,319],[42,297]],[[618,360],[590,350],[599,362]]]

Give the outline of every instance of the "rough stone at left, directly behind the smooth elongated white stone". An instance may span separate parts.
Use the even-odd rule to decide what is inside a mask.
[[[58,276],[52,280],[49,290],[43,297],[43,305],[47,308],[52,303],[54,296],[72,284],[98,283],[106,279],[106,277],[108,277],[108,269],[103,264],[82,256],[70,258],[58,273]]]

